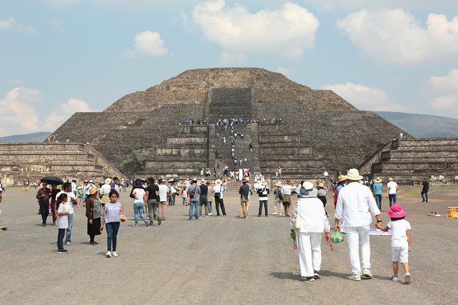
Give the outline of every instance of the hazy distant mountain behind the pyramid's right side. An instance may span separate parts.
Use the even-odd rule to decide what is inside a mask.
[[[458,137],[458,120],[444,116],[374,111],[414,137]]]

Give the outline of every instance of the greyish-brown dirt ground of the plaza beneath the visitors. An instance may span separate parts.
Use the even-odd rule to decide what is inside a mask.
[[[458,206],[458,187],[433,187],[428,203],[418,187],[401,187],[398,202],[411,224],[412,281],[392,276],[390,237],[371,237],[372,280],[353,282],[348,246],[322,241],[322,279],[303,282],[298,254],[289,239],[289,220],[237,217],[235,193],[225,194],[227,217],[188,220],[188,207],[166,208],[161,226],[135,228],[133,203],[121,194],[127,223],[118,235],[118,257],[105,258],[106,233],[91,246],[84,208],[75,208],[69,254],[57,254],[58,229],[41,226],[35,192],[9,188],[0,209],[1,304],[457,304],[458,220],[446,220]],[[328,194],[328,202],[332,202]],[[177,198],[179,199],[179,198]],[[269,197],[269,214],[273,198]],[[383,198],[384,224],[387,198]],[[333,220],[333,204],[327,205]],[[427,214],[437,211],[442,217]],[[52,223],[52,222],[51,222]],[[403,274],[403,271],[401,271]]]

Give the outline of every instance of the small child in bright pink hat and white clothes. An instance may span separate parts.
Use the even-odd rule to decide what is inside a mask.
[[[391,229],[391,253],[393,260],[393,276],[391,280],[398,282],[398,263],[402,263],[405,269],[404,284],[410,284],[411,278],[409,273],[409,252],[411,250],[410,224],[404,220],[405,211],[400,204],[393,204],[386,212],[391,221],[383,228],[379,223],[375,224],[377,228],[387,232]]]

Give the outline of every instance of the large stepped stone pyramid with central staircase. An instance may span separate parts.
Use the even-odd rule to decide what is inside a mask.
[[[236,124],[217,138],[218,118],[266,122]],[[277,119],[282,122],[272,123]],[[89,142],[127,176],[191,176],[201,168],[235,167],[231,135],[238,132],[244,135],[233,139],[238,160],[265,176],[277,166],[283,176],[346,172],[400,132],[411,138],[329,90],[312,90],[260,68],[188,70],[127,94],[102,112],[77,113],[55,136]]]

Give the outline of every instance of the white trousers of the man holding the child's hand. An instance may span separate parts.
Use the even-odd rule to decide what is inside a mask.
[[[348,254],[350,254],[351,271],[353,274],[361,275],[359,247],[361,247],[363,269],[370,269],[369,230],[370,226],[346,227],[346,241],[348,242]]]

